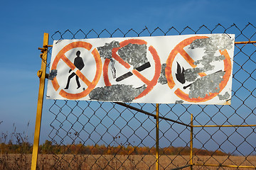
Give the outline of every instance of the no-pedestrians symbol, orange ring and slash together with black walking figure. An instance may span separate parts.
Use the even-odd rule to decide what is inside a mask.
[[[53,84],[53,88],[55,89],[55,91],[59,91],[60,96],[62,96],[63,98],[73,99],[73,100],[77,100],[77,99],[87,96],[90,93],[90,91],[92,91],[92,89],[94,89],[95,86],[97,85],[97,82],[100,80],[100,76],[101,76],[101,72],[102,72],[102,62],[100,59],[100,55],[97,52],[97,49],[95,48],[91,52],[92,56],[94,57],[95,63],[96,63],[95,77],[92,81],[87,79],[85,77],[85,75],[82,74],[82,69],[84,69],[85,64],[82,61],[82,57],[80,57],[80,50],[77,50],[76,54],[74,54],[77,56],[77,57],[75,57],[74,62],[70,61],[68,59],[68,57],[65,56],[66,52],[68,52],[69,50],[73,50],[75,48],[85,48],[86,50],[90,51],[92,49],[92,45],[88,42],[82,42],[82,41],[71,42],[70,44],[63,47],[63,49],[60,50],[60,52],[58,52],[58,55],[56,55],[56,57],[53,61],[52,67],[51,67],[51,70],[57,69],[57,65],[60,61],[65,62],[65,64],[67,64],[68,67],[70,67],[69,73],[70,72],[72,72],[72,73],[68,76],[68,82],[64,89],[60,89],[60,85],[57,80],[57,77],[53,78],[52,84]],[[60,74],[60,73],[58,73],[58,74]],[[75,77],[75,79],[76,79],[76,83],[78,85],[77,89],[80,88],[79,79],[82,80],[87,85],[87,88],[83,89],[82,92],[79,92],[77,94],[68,93],[66,90],[69,89],[70,79],[72,79],[73,77]]]

